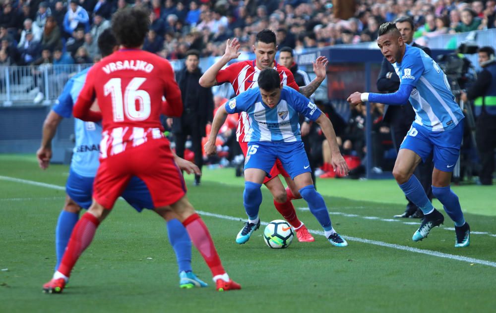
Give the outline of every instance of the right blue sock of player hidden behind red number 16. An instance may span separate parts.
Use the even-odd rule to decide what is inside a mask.
[[[178,219],[167,222],[167,235],[178,261],[179,271],[191,271],[191,239]]]

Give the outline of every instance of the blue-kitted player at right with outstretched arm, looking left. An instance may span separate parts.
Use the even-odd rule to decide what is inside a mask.
[[[449,186],[460,154],[463,113],[454,102],[446,75],[439,65],[421,49],[406,45],[394,23],[380,26],[377,45],[400,77],[399,90],[384,95],[356,92],[350,95],[348,102],[355,105],[365,101],[402,105],[410,101],[416,118],[400,146],[393,175],[408,199],[425,215],[412,239],[420,241],[426,238],[433,227],[444,221],[444,216],[434,209],[413,175],[415,167],[434,153],[434,197],[455,223],[455,247],[467,247],[470,227],[465,222],[458,197]]]

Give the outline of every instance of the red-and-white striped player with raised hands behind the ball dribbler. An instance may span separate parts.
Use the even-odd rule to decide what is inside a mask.
[[[307,86],[298,87],[293,77],[293,73],[286,67],[278,64],[275,61],[277,51],[276,35],[268,29],[260,31],[255,38],[253,52],[255,53],[254,60],[241,61],[233,63],[222,69],[229,61],[238,58],[241,52],[238,52],[240,44],[235,38],[232,41],[228,40],[226,51],[222,57],[215,62],[200,78],[200,85],[203,87],[212,87],[225,82],[231,83],[236,95],[246,92],[250,88],[255,88],[257,78],[260,71],[264,68],[274,68],[279,73],[282,86],[289,86],[302,94],[310,97],[317,89],[320,83],[324,80],[327,65],[327,59],[324,56],[319,56],[313,64],[313,71],[317,77]],[[250,124],[248,115],[242,112],[238,121],[238,129],[236,138],[240,143],[241,150],[247,157],[248,142],[250,141]],[[300,198],[298,190],[294,182],[290,179],[289,174],[284,170],[279,159],[276,160],[274,166],[270,170],[270,178],[266,177],[263,181],[267,189],[271,192],[274,198],[274,206],[282,216],[294,227],[298,241],[311,242],[314,241],[307,227],[298,219],[295,208],[291,203],[291,199]],[[278,175],[281,174],[286,179],[289,188],[285,189]],[[254,222],[254,223],[253,223]],[[245,225],[246,231],[258,228],[258,220],[248,220]]]

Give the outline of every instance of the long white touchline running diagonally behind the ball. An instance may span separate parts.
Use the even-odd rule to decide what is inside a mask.
[[[31,181],[31,180],[25,180],[25,179],[19,179],[19,178],[13,178],[13,177],[1,176],[1,175],[0,175],[0,180],[19,182],[19,183],[30,184],[30,185],[46,187],[46,188],[51,188],[51,189],[57,189],[57,190],[65,190],[64,187],[57,186],[57,185],[40,183],[40,182]],[[233,220],[233,221],[244,221],[245,220],[245,218],[234,217],[234,216],[229,216],[229,215],[216,214],[216,213],[210,213],[210,212],[199,211],[199,210],[197,212],[199,214],[202,214],[205,216],[212,216],[212,217],[228,219],[228,220]],[[261,221],[260,224],[267,225],[268,223]],[[324,235],[324,232],[321,230],[309,229],[309,232],[316,234],[316,235],[322,235],[322,236]],[[482,265],[487,265],[487,266],[491,266],[491,267],[496,267],[496,262],[492,262],[492,261],[473,259],[473,258],[457,256],[457,255],[450,255],[450,254],[442,253],[442,252],[438,252],[438,251],[423,250],[423,249],[412,248],[412,247],[396,245],[396,244],[390,244],[387,242],[358,238],[358,237],[343,236],[343,238],[345,238],[346,240],[349,240],[349,241],[356,241],[356,242],[366,243],[366,244],[380,246],[380,247],[386,247],[386,248],[392,248],[392,249],[396,249],[396,250],[403,250],[403,251],[408,251],[408,252],[413,252],[413,253],[425,254],[425,255],[429,255],[429,256],[433,256],[433,257],[437,257],[437,258],[444,258],[444,259],[450,259],[450,260],[455,260],[455,261],[464,261],[464,262],[469,262],[469,263],[476,263],[476,264],[482,264]]]

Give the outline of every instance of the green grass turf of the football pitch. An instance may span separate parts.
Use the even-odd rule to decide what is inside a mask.
[[[67,166],[42,171],[33,157],[0,156],[0,161],[1,176],[65,184]],[[244,218],[243,180],[232,176],[231,170],[205,170],[200,187],[188,179],[191,203],[205,212]],[[473,234],[466,249],[455,249],[453,231],[438,228],[413,243],[415,225],[387,221],[404,204],[392,181],[317,184],[331,195],[324,197],[331,212],[358,215],[331,215],[343,235],[496,262],[496,237],[488,234]],[[464,207],[477,202],[496,211],[494,192],[480,186],[456,192]],[[261,219],[280,218],[265,189],[263,196]],[[243,290],[215,292],[195,249],[193,269],[211,286],[182,290],[164,222],[150,211],[137,214],[122,201],[77,263],[69,288],[62,295],[42,294],[55,262],[54,228],[63,197],[60,190],[0,178],[0,269],[7,269],[0,271],[0,312],[491,312],[496,306],[493,266],[356,241],[335,248],[317,235],[314,243],[271,250],[261,230],[237,245],[241,221],[205,214],[221,259]],[[295,207],[306,204],[298,200]],[[298,214],[310,229],[320,230],[309,211]],[[494,212],[470,207],[466,218],[474,231],[496,234]],[[452,227],[447,216],[445,226]]]

